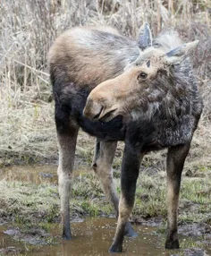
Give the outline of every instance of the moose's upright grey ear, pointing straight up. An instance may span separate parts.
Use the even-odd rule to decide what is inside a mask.
[[[138,43],[141,50],[152,46],[152,33],[148,22],[145,22],[139,29]]]

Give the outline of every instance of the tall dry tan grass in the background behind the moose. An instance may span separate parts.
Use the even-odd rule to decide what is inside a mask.
[[[190,152],[191,167],[211,166],[211,31],[207,0],[3,0],[0,5],[0,159],[57,158],[54,104],[47,52],[76,25],[112,25],[136,37],[143,21],[154,36],[174,27],[186,41],[200,39],[193,55],[205,110]],[[79,149],[87,153],[82,141]],[[89,147],[90,149],[90,147]],[[155,154],[155,159],[160,155]]]

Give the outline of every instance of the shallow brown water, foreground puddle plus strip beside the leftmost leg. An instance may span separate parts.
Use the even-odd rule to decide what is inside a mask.
[[[78,175],[79,172],[76,171],[75,175]],[[10,181],[15,180],[36,184],[45,182],[57,183],[56,166],[10,166],[0,170],[0,176]],[[14,241],[14,235],[5,234],[5,231],[11,228],[12,225],[0,226],[0,255],[19,255],[19,253],[30,256],[211,255],[211,243],[209,245],[204,243],[203,237],[180,236],[181,248],[183,249],[166,251],[164,249],[165,235],[157,234],[158,227],[152,226],[135,226],[139,236],[135,239],[126,238],[122,253],[109,253],[108,249],[113,241],[116,227],[116,220],[114,218],[87,218],[85,221],[72,223],[73,238],[71,241],[63,241],[60,238],[61,226],[51,224],[49,238],[54,238],[55,245],[45,246],[31,246],[24,241]],[[196,253],[194,250],[193,253],[184,251],[192,247],[203,249]],[[204,250],[207,254],[204,254]]]

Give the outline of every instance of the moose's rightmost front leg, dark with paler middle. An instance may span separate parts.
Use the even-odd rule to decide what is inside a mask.
[[[181,187],[181,172],[185,158],[190,149],[190,143],[168,149],[167,154],[167,237],[166,249],[178,249],[180,247],[177,234],[177,216],[179,193]]]

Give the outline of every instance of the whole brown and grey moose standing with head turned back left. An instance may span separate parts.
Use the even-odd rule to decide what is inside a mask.
[[[129,218],[139,166],[152,150],[167,151],[166,249],[179,248],[177,211],[181,172],[203,104],[190,52],[175,31],[152,40],[148,23],[139,39],[110,27],[76,27],[55,40],[49,52],[59,147],[58,181],[63,239],[71,239],[70,190],[79,129],[95,136],[92,167],[118,218],[109,252],[122,252],[124,235],[134,237]],[[112,163],[124,141],[121,198],[115,192]]]

